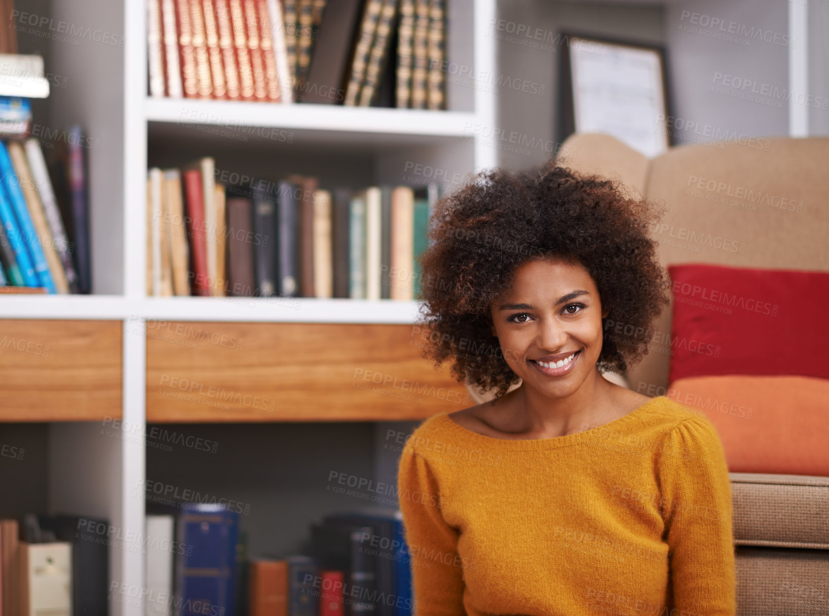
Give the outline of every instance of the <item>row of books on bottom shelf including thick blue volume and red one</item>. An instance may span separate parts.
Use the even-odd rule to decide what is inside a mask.
[[[310,530],[307,550],[248,558],[238,512],[181,503],[177,512],[150,514],[143,607],[147,614],[172,614],[172,607],[224,616],[412,614],[399,510],[338,513]]]

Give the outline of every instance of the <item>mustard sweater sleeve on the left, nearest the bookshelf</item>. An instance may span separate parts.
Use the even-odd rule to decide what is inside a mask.
[[[434,473],[411,445],[400,454],[397,483],[411,558],[413,616],[466,616],[458,531],[444,521]]]

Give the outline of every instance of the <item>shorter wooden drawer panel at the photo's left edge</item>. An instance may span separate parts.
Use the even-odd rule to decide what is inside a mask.
[[[0,421],[120,417],[120,321],[0,320]]]

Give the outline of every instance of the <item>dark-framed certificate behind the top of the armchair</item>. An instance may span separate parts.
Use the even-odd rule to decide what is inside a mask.
[[[560,141],[571,133],[606,133],[647,157],[670,145],[662,47],[562,35]]]

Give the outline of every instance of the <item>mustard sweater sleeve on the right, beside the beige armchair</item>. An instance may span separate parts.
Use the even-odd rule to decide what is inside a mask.
[[[683,614],[734,616],[731,483],[714,425],[692,417],[671,429],[658,468],[673,607]]]

